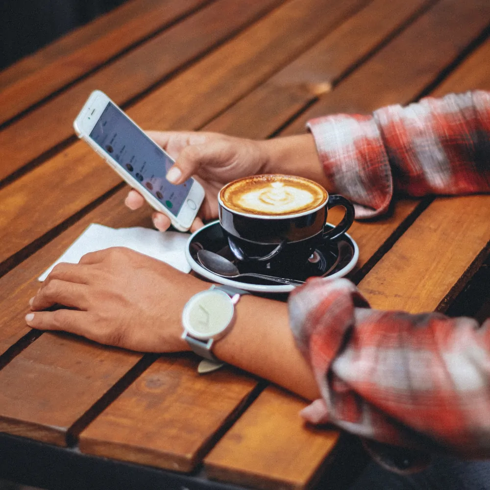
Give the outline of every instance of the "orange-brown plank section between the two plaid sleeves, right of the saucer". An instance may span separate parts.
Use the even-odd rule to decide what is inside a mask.
[[[433,311],[447,294],[453,299],[462,290],[489,241],[490,196],[439,198],[359,287],[373,308]]]

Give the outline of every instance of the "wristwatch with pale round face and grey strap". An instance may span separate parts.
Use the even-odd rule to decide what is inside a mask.
[[[197,355],[211,361],[203,363],[203,367],[209,368],[206,371],[224,364],[211,349],[214,342],[224,337],[233,327],[235,305],[244,294],[250,293],[231,286],[213,285],[208,290],[195,294],[184,306],[182,339],[187,341]],[[200,369],[199,372],[203,370]]]

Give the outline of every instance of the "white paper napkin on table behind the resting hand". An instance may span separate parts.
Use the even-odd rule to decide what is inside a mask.
[[[77,264],[82,255],[103,250],[111,246],[125,246],[155,259],[167,262],[175,269],[190,272],[191,266],[185,258],[188,233],[157,231],[141,226],[134,228],[110,228],[92,223],[46,272],[39,276],[44,281],[58,262]]]

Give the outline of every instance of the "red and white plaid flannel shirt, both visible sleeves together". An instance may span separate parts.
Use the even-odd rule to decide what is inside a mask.
[[[490,191],[490,94],[426,98],[372,116],[310,121],[320,159],[359,218],[393,193]],[[359,436],[490,456],[490,319],[369,308],[345,279],[311,279],[289,300],[290,322],[322,399],[303,416]]]

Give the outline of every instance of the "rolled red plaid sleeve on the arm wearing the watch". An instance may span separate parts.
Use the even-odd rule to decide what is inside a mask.
[[[490,319],[373,310],[350,281],[319,278],[291,293],[289,312],[322,395],[303,410],[308,421],[490,456]]]

